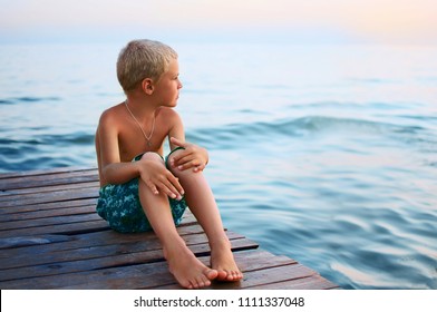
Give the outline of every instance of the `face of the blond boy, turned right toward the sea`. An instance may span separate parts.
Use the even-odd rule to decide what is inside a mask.
[[[179,65],[177,59],[173,59],[168,66],[168,70],[155,84],[154,95],[162,106],[175,107],[181,88]]]

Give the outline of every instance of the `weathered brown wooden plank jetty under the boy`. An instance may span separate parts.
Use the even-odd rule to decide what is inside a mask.
[[[0,174],[0,289],[181,289],[154,233],[120,234],[95,212],[95,168]],[[208,245],[188,212],[178,232],[206,264]],[[226,231],[244,279],[210,289],[337,289],[313,270]]]

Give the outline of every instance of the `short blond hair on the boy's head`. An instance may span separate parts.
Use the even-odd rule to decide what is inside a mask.
[[[117,78],[123,90],[134,90],[146,78],[159,80],[173,59],[177,59],[176,51],[159,41],[143,39],[128,42],[117,60]]]

